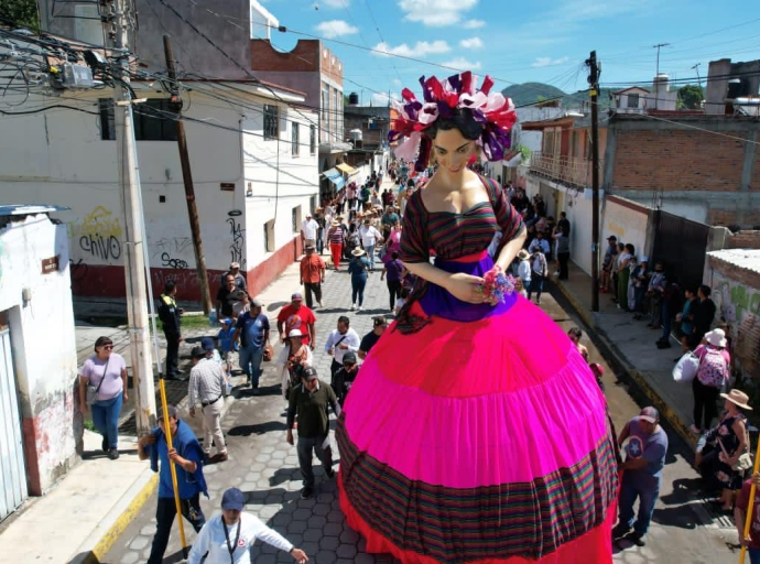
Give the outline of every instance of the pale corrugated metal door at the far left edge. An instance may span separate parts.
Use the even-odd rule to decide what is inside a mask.
[[[24,445],[11,357],[11,334],[0,329],[0,521],[26,499]]]

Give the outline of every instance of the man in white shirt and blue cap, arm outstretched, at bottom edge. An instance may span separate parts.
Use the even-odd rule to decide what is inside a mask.
[[[193,543],[188,564],[250,564],[251,546],[257,539],[287,552],[298,564],[308,561],[306,553],[296,549],[279,532],[270,529],[251,513],[242,511],[246,496],[238,488],[229,488],[221,496],[221,513],[209,519]]]

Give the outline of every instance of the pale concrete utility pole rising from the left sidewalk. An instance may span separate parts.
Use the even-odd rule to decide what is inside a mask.
[[[148,329],[148,291],[145,289],[145,246],[142,240],[143,217],[140,210],[138,155],[134,150],[134,124],[129,88],[129,31],[131,19],[126,0],[115,0],[113,51],[119,56],[119,79],[113,88],[113,117],[119,164],[119,187],[124,218],[124,276],[127,280],[127,316],[132,359],[132,386],[138,434],[149,433],[155,414],[155,384],[151,364]]]

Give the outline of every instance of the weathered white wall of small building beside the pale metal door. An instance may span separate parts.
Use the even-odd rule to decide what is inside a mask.
[[[54,257],[58,270],[42,273],[42,260]],[[77,354],[66,226],[40,214],[0,228],[3,311],[11,332],[30,492],[42,495],[75,464],[82,436],[74,394]]]

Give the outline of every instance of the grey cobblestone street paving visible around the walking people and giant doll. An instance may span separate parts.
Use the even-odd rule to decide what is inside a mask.
[[[351,327],[359,336],[371,330],[372,316],[388,314],[388,291],[380,273],[370,275],[367,285],[365,311],[349,312],[350,279],[346,272],[328,271],[324,285],[324,308],[316,310],[317,334],[319,336],[314,359],[319,376],[329,381],[330,357],[324,352],[324,344],[329,330],[335,328],[338,316],[347,315]],[[265,303],[270,318],[276,315],[282,303]],[[563,327],[575,325],[569,315],[545,294],[544,308]],[[273,338],[276,332],[273,328]],[[593,360],[598,352],[588,343]],[[275,352],[279,347],[275,348]],[[262,386],[257,393],[249,388],[235,391],[236,401],[222,420],[227,433],[229,460],[205,468],[210,500],[203,499],[202,506],[207,519],[219,510],[221,494],[231,486],[239,487],[247,496],[247,510],[259,516],[269,525],[283,533],[317,564],[391,563],[397,562],[388,555],[365,553],[365,542],[347,528],[338,507],[335,480],[327,479],[322,468],[315,464],[316,490],[308,500],[300,499],[301,473],[295,447],[285,443],[285,402],[280,393],[279,378],[271,362],[265,364]],[[607,372],[610,375],[610,372]],[[610,375],[608,398],[616,414],[618,429],[631,415],[638,413],[628,392],[622,386],[615,386]],[[199,432],[199,421],[188,421]],[[333,426],[335,422],[333,421]],[[337,448],[334,436],[335,468]],[[699,524],[696,513],[688,507],[696,502],[688,492],[678,487],[681,478],[694,478],[694,471],[683,459],[676,437],[672,434],[672,454],[665,468],[666,487],[658,505],[654,522],[650,530],[649,543],[644,547],[622,546],[616,552],[616,563],[643,564],[654,562],[688,562],[715,564],[732,561],[725,540],[734,540],[735,533],[718,528],[706,529]],[[316,463],[316,460],[315,460]],[[148,463],[145,463],[148,464]],[[673,488],[671,488],[673,484]],[[667,501],[670,505],[663,505]],[[151,499],[140,511],[115,544],[104,562],[108,564],[134,564],[145,562],[155,532],[155,500]],[[192,544],[195,533],[185,522],[187,542]],[[724,536],[726,539],[724,539]],[[182,551],[178,530],[175,524],[166,560],[180,562]],[[261,543],[252,550],[252,561],[257,564],[293,562],[284,553]]]

